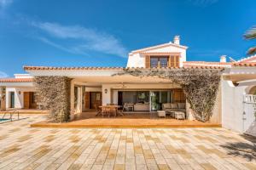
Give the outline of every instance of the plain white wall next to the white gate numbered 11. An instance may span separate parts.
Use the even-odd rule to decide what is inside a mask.
[[[243,95],[246,87],[234,87],[222,81],[222,126],[243,133]]]

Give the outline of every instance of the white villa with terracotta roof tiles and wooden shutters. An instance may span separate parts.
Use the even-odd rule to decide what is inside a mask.
[[[180,38],[172,42],[141,48],[128,56],[126,68],[141,70],[152,68],[223,68],[217,101],[210,122],[216,122],[240,133],[256,135],[254,105],[256,104],[256,56],[227,62],[221,56],[219,62],[188,61],[188,47],[180,44]],[[177,104],[193,120],[189,104],[182,88],[168,79],[156,77],[113,77],[123,67],[51,67],[24,66],[28,74],[15,74],[14,78],[0,79],[0,87],[6,87],[2,108],[36,109],[36,90],[33,77],[63,76],[72,78],[71,113],[91,111],[98,105],[118,104],[126,109],[162,111],[164,104]],[[130,106],[130,108],[129,108]],[[139,113],[137,113],[139,114]]]

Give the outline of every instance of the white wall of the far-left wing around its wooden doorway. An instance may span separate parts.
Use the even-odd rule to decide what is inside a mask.
[[[22,109],[24,108],[24,92],[34,91],[34,88],[6,88],[6,108],[10,108],[10,92],[15,92],[15,109]]]

